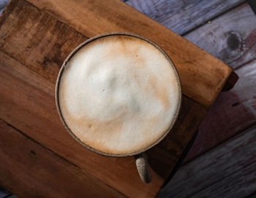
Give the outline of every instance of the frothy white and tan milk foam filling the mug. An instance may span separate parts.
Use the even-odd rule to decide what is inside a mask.
[[[179,103],[176,71],[157,47],[134,36],[105,36],[69,60],[59,106],[80,141],[108,154],[132,154],[169,129]]]

